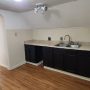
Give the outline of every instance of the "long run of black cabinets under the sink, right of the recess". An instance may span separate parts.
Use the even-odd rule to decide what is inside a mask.
[[[90,51],[43,48],[44,66],[90,77]]]

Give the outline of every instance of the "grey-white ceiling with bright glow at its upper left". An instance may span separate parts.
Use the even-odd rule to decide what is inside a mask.
[[[48,7],[57,4],[68,3],[76,0],[22,0],[22,2],[15,2],[14,0],[0,0],[0,9],[14,12],[25,12],[33,10],[36,3],[44,3]]]

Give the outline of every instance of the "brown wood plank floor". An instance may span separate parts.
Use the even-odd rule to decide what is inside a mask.
[[[0,67],[0,90],[90,90],[90,82],[25,64],[12,71]]]

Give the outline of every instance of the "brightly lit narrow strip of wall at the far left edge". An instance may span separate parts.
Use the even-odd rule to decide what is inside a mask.
[[[9,67],[9,53],[7,47],[6,30],[4,29],[3,17],[0,16],[0,65]]]

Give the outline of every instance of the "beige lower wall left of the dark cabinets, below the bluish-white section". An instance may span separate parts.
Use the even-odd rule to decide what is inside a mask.
[[[30,39],[31,30],[7,30],[10,69],[25,63],[24,41]]]

